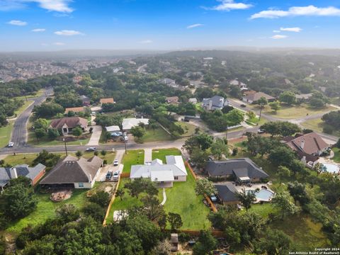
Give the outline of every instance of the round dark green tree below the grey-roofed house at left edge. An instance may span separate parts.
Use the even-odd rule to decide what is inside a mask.
[[[26,188],[22,183],[6,188],[2,197],[4,199],[4,212],[11,219],[25,217],[33,212],[38,204],[31,188]]]

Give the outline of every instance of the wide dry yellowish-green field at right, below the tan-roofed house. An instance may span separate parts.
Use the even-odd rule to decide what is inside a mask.
[[[259,110],[259,106],[257,105],[249,105],[251,108],[254,108],[256,110]],[[277,118],[302,118],[307,115],[314,115],[317,113],[325,113],[327,111],[333,111],[336,110],[336,108],[327,106],[322,109],[314,109],[310,108],[310,106],[307,106],[306,104],[302,104],[301,106],[281,106],[280,110],[274,112],[271,110],[269,106],[265,106],[263,108],[262,113],[266,113],[268,115],[276,116]]]

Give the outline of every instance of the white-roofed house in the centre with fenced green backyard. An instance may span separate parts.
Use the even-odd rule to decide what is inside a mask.
[[[130,179],[147,178],[159,186],[169,188],[174,181],[186,181],[186,166],[181,156],[166,156],[166,164],[154,159],[144,165],[131,166]]]

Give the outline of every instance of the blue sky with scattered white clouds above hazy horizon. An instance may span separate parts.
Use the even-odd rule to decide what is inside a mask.
[[[0,51],[339,48],[339,0],[0,0]]]

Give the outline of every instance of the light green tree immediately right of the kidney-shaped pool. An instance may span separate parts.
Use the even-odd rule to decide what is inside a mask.
[[[288,191],[278,191],[272,199],[273,205],[280,210],[281,219],[288,215],[295,215],[300,208],[293,203],[293,198]]]

